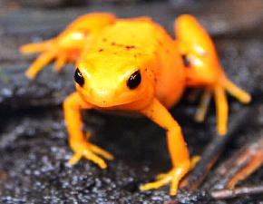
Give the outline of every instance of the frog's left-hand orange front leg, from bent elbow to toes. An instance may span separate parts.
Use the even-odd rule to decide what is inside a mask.
[[[107,164],[98,155],[107,160],[112,160],[113,156],[108,151],[104,151],[87,141],[84,137],[81,117],[81,110],[83,109],[93,109],[93,105],[84,102],[78,92],[73,92],[63,102],[63,112],[67,130],[69,132],[69,143],[74,151],[73,158],[69,160],[69,163],[73,165],[82,157],[85,157],[86,159],[92,160],[94,163],[98,164],[102,169],[105,169]]]

